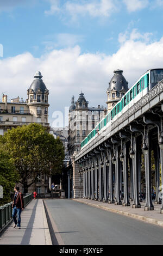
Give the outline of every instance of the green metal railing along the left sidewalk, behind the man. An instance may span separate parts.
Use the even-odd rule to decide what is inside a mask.
[[[24,196],[24,208],[32,200],[32,193]],[[0,206],[0,232],[12,221],[12,202]]]

